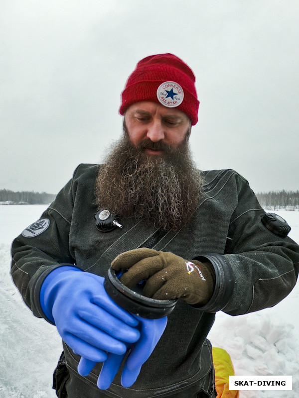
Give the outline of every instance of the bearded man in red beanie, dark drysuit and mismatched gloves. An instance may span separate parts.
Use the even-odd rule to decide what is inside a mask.
[[[215,312],[273,306],[298,277],[299,246],[234,170],[199,171],[188,139],[199,101],[172,54],[141,60],[122,94],[124,134],[103,165],[80,165],[12,244],[11,275],[34,315],[57,327],[58,397],[216,397],[207,334]],[[175,302],[147,319],[124,289]]]

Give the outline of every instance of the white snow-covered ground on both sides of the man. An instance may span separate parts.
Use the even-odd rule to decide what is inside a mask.
[[[54,398],[52,373],[60,337],[23,304],[11,282],[10,243],[46,206],[0,206],[0,398]],[[299,243],[299,211],[275,211]],[[241,391],[240,398],[295,398],[299,394],[299,284],[281,303],[231,317],[219,312],[209,334],[230,354],[236,375],[293,376],[293,391]],[[297,309],[296,309],[297,308]]]

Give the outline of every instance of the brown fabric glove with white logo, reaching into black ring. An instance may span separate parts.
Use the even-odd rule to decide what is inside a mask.
[[[127,270],[120,281],[132,289],[147,280],[143,295],[165,300],[183,298],[189,304],[204,305],[214,292],[215,273],[207,260],[187,261],[170,252],[140,248],[117,256],[111,267]]]

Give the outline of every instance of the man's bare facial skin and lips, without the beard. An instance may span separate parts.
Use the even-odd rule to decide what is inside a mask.
[[[130,141],[134,146],[144,140],[161,142],[177,148],[189,133],[189,117],[175,108],[167,108],[151,101],[137,102],[131,105],[125,114],[125,124]],[[163,150],[154,147],[145,149],[148,155],[162,156]]]

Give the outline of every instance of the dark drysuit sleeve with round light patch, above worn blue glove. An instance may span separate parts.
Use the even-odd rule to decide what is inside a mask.
[[[46,276],[62,265],[74,265],[69,252],[69,233],[75,194],[76,186],[72,179],[40,219],[12,242],[12,280],[37,317],[45,317],[40,307],[39,292]]]

